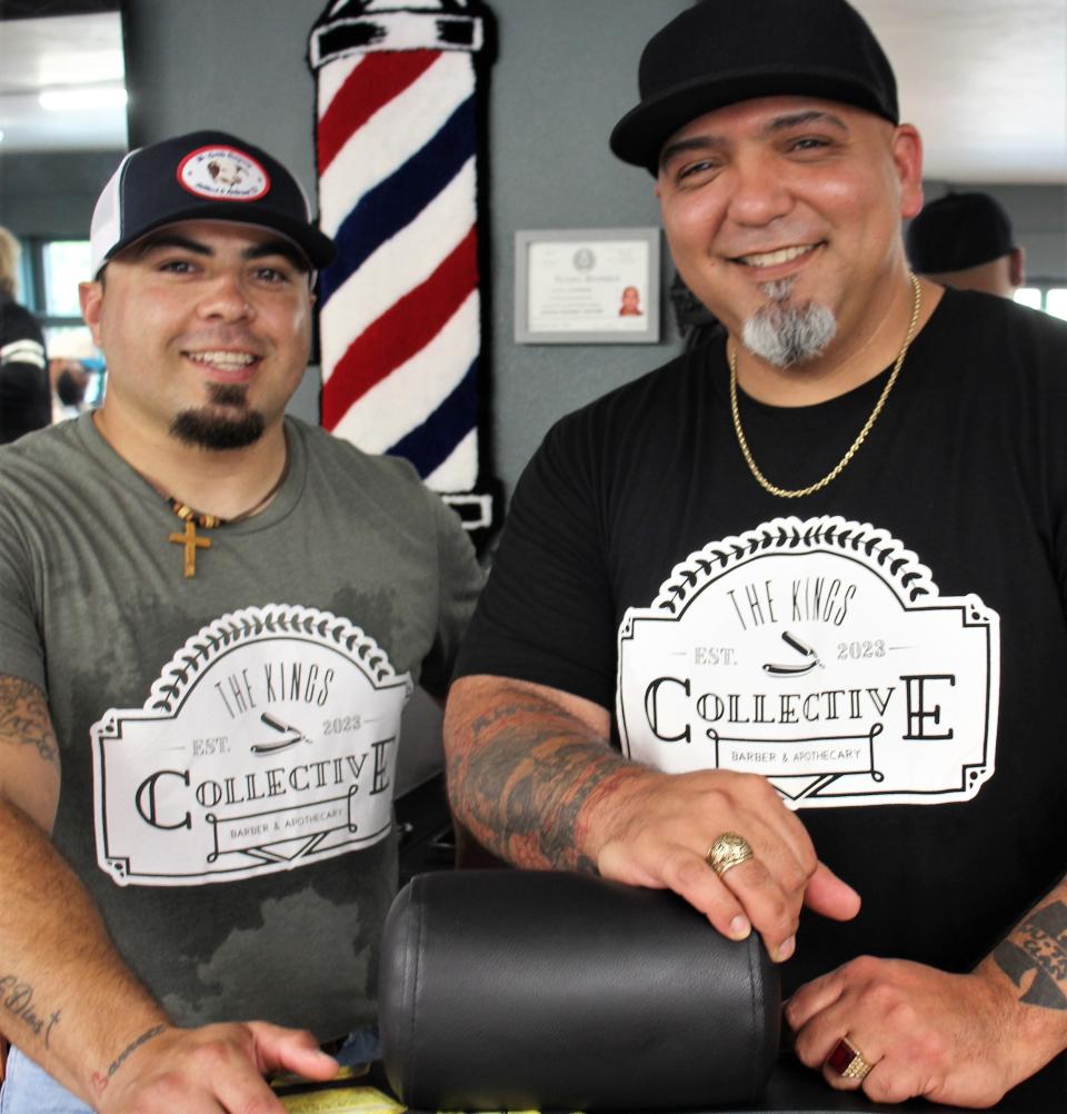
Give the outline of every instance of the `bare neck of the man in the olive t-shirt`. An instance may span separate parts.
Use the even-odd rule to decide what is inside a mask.
[[[202,449],[170,436],[159,440],[138,429],[124,430],[119,437],[106,407],[94,413],[94,423],[104,440],[161,496],[222,519],[245,512],[285,468],[281,419],[255,443],[225,450]]]

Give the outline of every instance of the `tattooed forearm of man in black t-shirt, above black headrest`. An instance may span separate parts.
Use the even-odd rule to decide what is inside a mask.
[[[642,769],[608,749],[599,711],[576,715],[526,684],[457,683],[444,721],[449,798],[483,847],[517,867],[595,869],[591,818]]]

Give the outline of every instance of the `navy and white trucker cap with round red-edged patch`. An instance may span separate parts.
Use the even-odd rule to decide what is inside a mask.
[[[177,221],[238,221],[293,241],[311,270],[336,255],[311,223],[300,183],[265,150],[225,131],[188,135],[131,150],[92,211],[92,275],[116,252]]]

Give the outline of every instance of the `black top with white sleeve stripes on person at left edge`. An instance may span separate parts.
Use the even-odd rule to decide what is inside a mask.
[[[52,420],[45,338],[29,310],[0,295],[0,443]]]

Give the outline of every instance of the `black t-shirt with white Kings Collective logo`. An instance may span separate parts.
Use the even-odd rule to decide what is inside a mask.
[[[742,395],[764,475],[830,471],[885,375]],[[770,776],[863,897],[806,917],[787,990],[861,952],[969,969],[1067,868],[1065,426],[1067,329],[949,291],[854,459],[783,499],[713,341],[549,432],[459,674],[614,707],[663,769]]]

